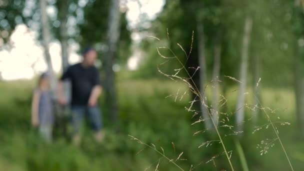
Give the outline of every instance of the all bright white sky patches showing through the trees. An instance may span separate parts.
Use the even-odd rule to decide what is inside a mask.
[[[85,2],[85,0],[82,1]],[[163,4],[163,0],[127,0],[127,19],[130,27],[135,27],[140,22],[139,16],[142,12],[147,14],[148,19],[153,19],[156,13],[161,10]],[[55,11],[50,7],[47,12],[52,17],[52,13]],[[36,73],[46,70],[43,49],[35,40],[35,34],[23,24],[15,28],[10,37],[13,48],[0,51],[0,73],[3,79],[31,79]],[[59,72],[61,68],[60,50],[60,45],[57,41],[50,42],[49,52],[55,72]],[[77,50],[76,43],[70,44],[70,64],[80,61],[81,57],[76,53]],[[136,59],[136,55],[133,55],[128,61],[128,66],[130,69],[135,69],[137,63],[138,58]]]

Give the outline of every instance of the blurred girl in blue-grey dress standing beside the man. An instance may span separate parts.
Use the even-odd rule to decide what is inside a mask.
[[[39,127],[40,135],[46,141],[52,139],[54,122],[49,84],[49,76],[46,73],[41,74],[31,104],[31,124]]]

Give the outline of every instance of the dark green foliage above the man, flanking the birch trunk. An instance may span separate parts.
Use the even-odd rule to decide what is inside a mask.
[[[83,20],[78,23],[79,34],[76,41],[80,47],[94,45],[101,53],[105,53],[107,49],[106,35],[108,29],[108,10],[110,0],[89,0],[83,7]],[[130,30],[125,12],[121,12],[120,17],[120,36],[117,46],[117,63],[125,63],[130,55]]]

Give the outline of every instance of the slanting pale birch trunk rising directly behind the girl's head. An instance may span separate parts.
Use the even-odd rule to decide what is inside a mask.
[[[41,27],[42,27],[42,46],[44,50],[44,57],[45,62],[47,64],[47,71],[50,74],[50,85],[51,85],[51,93],[52,97],[55,98],[55,86],[56,86],[56,79],[53,73],[53,67],[51,63],[51,58],[49,54],[49,47],[48,43],[50,41],[50,32],[49,32],[49,26],[48,26],[48,17],[46,13],[46,6],[47,6],[47,0],[40,0],[40,21],[41,21]]]

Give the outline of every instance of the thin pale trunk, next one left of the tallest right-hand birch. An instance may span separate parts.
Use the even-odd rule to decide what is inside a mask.
[[[221,32],[218,30],[216,35],[216,42],[214,44],[214,61],[213,61],[213,72],[212,72],[212,118],[217,125],[218,123],[218,102],[219,102],[219,71],[220,71],[220,55],[221,55]]]

